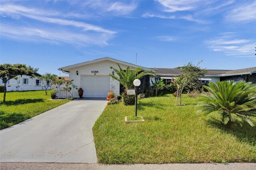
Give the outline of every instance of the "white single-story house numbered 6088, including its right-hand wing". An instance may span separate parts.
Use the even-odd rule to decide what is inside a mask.
[[[131,69],[140,67],[144,70],[153,70],[156,72],[156,77],[159,79],[165,79],[166,83],[170,81],[171,77],[176,77],[182,73],[181,69],[146,68],[110,57],[60,67],[58,70],[69,74],[69,79],[74,80],[74,85],[76,85],[78,88],[82,87],[82,89],[84,89],[83,97],[106,97],[109,90],[112,90],[114,93],[116,93],[116,95],[123,92],[123,86],[109,76],[109,74],[116,74],[112,69],[110,69],[110,66],[118,68],[117,63],[124,70],[127,66],[129,66]],[[144,76],[141,79],[140,88],[148,88],[150,79],[152,79],[152,77],[149,75]],[[240,70],[208,69],[208,73],[206,73],[201,80],[207,84],[209,81],[215,82],[226,79],[234,81],[243,80],[246,82],[252,81],[253,83],[256,83],[256,67]],[[77,90],[74,91],[73,97],[79,97]]]

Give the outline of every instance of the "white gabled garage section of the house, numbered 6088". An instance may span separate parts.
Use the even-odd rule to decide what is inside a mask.
[[[82,87],[84,90],[83,97],[107,97],[109,90],[112,90],[116,95],[120,95],[123,92],[123,86],[109,75],[116,74],[112,69],[110,69],[110,66],[118,69],[117,63],[124,70],[126,70],[127,66],[131,69],[140,67],[144,70],[152,70],[110,57],[60,67],[58,70],[63,73],[68,73],[69,79],[74,80],[74,85],[78,88]],[[148,87],[149,83],[150,76],[145,76],[141,79],[140,87]],[[73,97],[79,97],[77,90],[74,90]]]

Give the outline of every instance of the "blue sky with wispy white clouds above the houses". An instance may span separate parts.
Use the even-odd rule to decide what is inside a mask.
[[[144,67],[256,66],[256,1],[1,1],[0,63],[39,73],[101,57]],[[61,75],[66,75],[61,73]]]

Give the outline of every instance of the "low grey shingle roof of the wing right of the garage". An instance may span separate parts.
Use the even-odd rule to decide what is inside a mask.
[[[168,69],[168,68],[150,68],[156,71],[157,75],[179,75],[182,73],[182,69]],[[224,74],[230,70],[218,70],[218,69],[207,69],[206,76]]]

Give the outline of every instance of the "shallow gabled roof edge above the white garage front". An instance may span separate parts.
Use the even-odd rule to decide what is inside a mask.
[[[152,69],[149,69],[149,68],[146,68],[146,67],[142,67],[142,66],[139,66],[139,65],[135,65],[135,64],[132,64],[132,63],[128,63],[128,62],[121,61],[121,60],[114,59],[114,58],[110,58],[110,57],[103,57],[103,58],[94,59],[94,60],[91,60],[91,61],[86,61],[86,62],[83,62],[83,63],[68,65],[68,66],[65,66],[65,67],[60,67],[58,70],[60,70],[60,71],[69,71],[71,68],[74,68],[74,67],[79,67],[79,66],[82,66],[82,65],[87,65],[87,64],[91,64],[91,63],[105,61],[105,60],[113,61],[115,63],[124,64],[124,65],[130,66],[130,67],[136,67],[136,68],[140,67],[140,68],[142,68],[144,70],[148,70],[148,71],[152,70]]]

